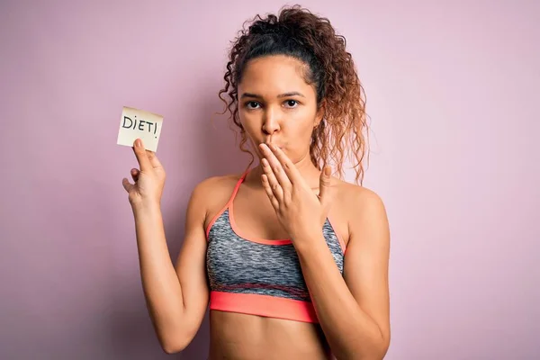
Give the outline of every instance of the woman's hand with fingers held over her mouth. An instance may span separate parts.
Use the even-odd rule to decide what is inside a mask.
[[[263,187],[284,229],[293,242],[319,235],[331,205],[331,168],[326,166],[320,173],[318,196],[281,148],[273,144],[261,144],[260,148],[264,155]]]

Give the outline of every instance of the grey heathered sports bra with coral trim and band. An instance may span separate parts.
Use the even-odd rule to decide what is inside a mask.
[[[236,225],[233,200],[248,171],[206,229],[210,309],[318,323],[291,240],[247,238]],[[343,275],[345,243],[328,218],[322,232]]]

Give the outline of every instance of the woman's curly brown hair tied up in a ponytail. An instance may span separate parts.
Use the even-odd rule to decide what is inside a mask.
[[[247,23],[248,28],[244,23],[232,41],[223,76],[225,86],[219,96],[225,103],[221,114],[229,111],[232,124],[239,129],[240,150],[251,155],[248,167],[255,157],[246,148],[246,131],[238,117],[238,84],[250,59],[286,55],[307,65],[305,80],[316,89],[318,107],[325,103],[324,118],[311,134],[312,163],[320,170],[328,163],[334,164],[338,176],[343,178],[343,162],[348,157],[354,162],[356,183],[362,184],[368,148],[365,92],[353,58],[346,50],[345,37],[336,33],[327,18],[300,5],[285,6],[277,16],[267,14],[262,18],[257,14]]]

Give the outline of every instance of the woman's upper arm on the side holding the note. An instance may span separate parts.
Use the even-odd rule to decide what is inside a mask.
[[[175,271],[182,288],[184,321],[188,334],[193,338],[201,326],[209,302],[206,280],[206,218],[209,188],[214,179],[204,180],[191,194],[184,225],[184,242],[178,254]]]

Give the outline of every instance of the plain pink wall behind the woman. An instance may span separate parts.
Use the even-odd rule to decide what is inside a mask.
[[[246,165],[211,123],[229,40],[282,4],[0,4],[0,358],[205,358],[206,320],[176,356],[151,328],[121,107],[165,117],[175,257],[193,186]],[[540,3],[303,4],[346,35],[367,93],[365,185],[392,226],[387,358],[540,358]]]

